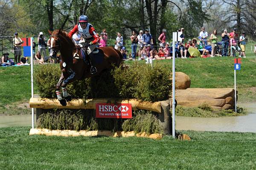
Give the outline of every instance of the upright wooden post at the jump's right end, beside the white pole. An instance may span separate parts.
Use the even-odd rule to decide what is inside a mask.
[[[161,113],[158,114],[159,124],[163,127],[163,131],[165,134],[170,134],[170,104],[169,100],[160,101],[161,103]]]

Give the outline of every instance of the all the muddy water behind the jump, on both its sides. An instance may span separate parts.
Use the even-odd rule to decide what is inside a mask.
[[[176,129],[256,133],[256,103],[238,104],[238,106],[248,109],[249,114],[244,116],[219,118],[196,118],[176,116]],[[35,117],[36,116],[34,116],[34,118]],[[12,126],[32,126],[32,116],[0,116],[0,127]]]

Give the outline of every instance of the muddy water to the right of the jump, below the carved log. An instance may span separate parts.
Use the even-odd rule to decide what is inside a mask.
[[[197,118],[176,116],[177,130],[256,133],[256,103],[238,104],[249,112],[244,116]]]

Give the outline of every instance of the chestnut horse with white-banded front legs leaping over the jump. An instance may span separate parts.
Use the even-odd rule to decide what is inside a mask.
[[[72,99],[71,95],[67,93],[67,84],[75,80],[91,78],[99,75],[104,69],[113,69],[123,63],[120,51],[113,47],[99,47],[99,52],[94,54],[89,64],[86,64],[81,55],[81,47],[75,45],[73,40],[67,36],[67,33],[61,29],[56,29],[53,32],[48,30],[48,32],[50,33],[52,49],[50,56],[56,55],[57,52],[61,53],[61,77],[56,84],[56,94],[62,106],[66,106],[67,102]],[[98,71],[94,75],[90,74],[91,62],[93,62],[93,65],[96,66]],[[63,97],[60,87],[62,88]]]

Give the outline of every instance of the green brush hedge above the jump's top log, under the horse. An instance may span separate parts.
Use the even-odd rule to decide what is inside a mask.
[[[171,70],[158,63],[150,65],[134,62],[129,68],[105,70],[93,78],[68,84],[73,98],[137,98],[143,101],[163,101],[172,90]],[[35,69],[35,84],[43,98],[56,98],[55,86],[61,75],[57,64]]]

